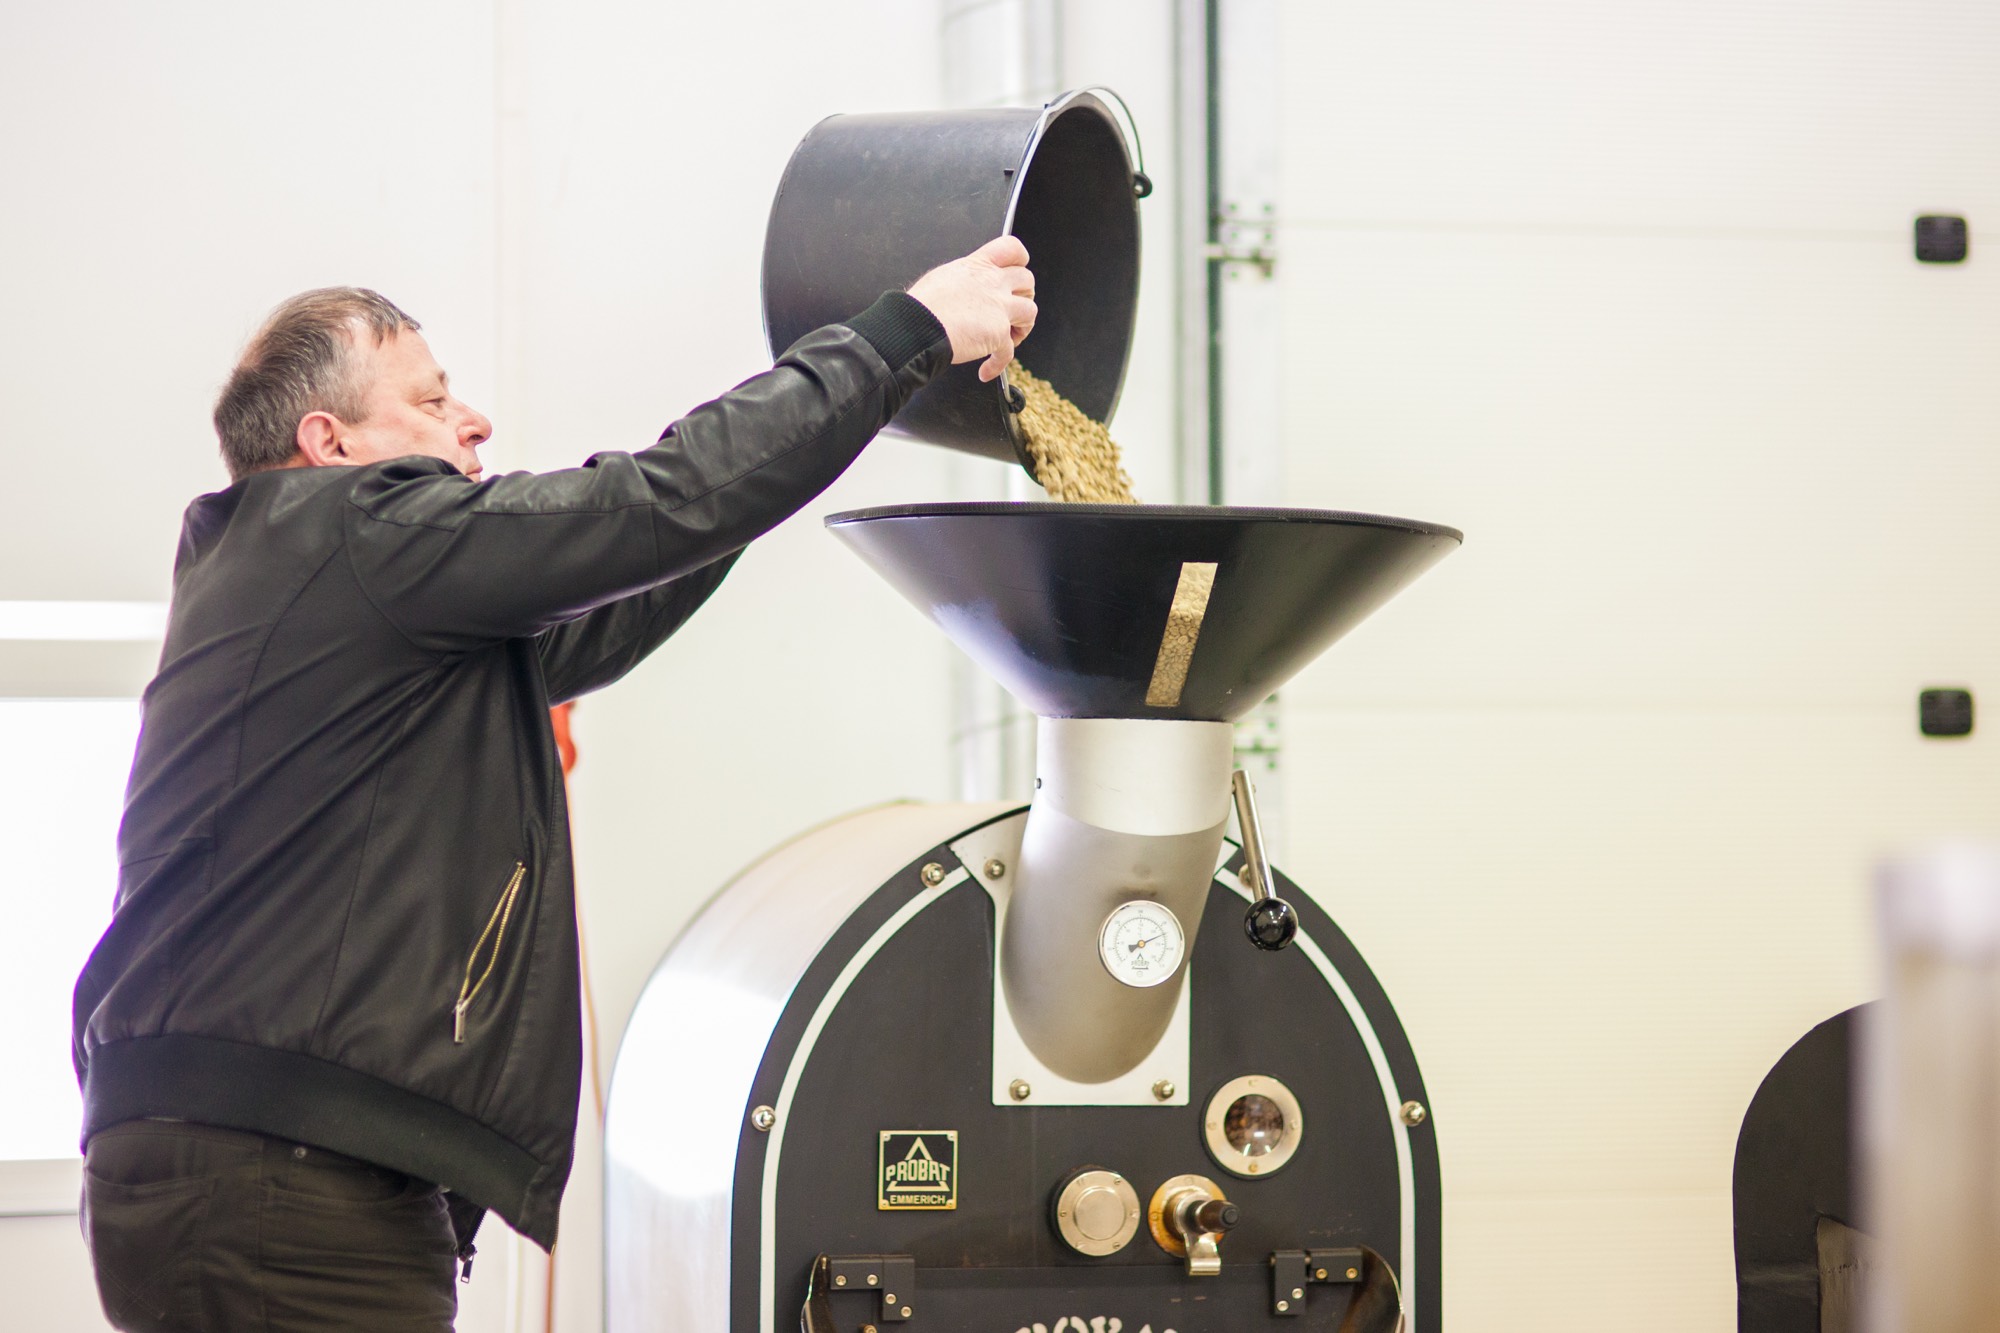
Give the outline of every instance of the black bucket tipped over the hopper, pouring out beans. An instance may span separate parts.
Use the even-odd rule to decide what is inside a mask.
[[[792,154],[764,230],[772,356],[1012,232],[1028,246],[1040,314],[1022,360],[1096,420],[1124,384],[1138,312],[1134,170],[1110,108],[1072,92],[1040,110],[828,116]],[[1018,390],[978,362],[918,392],[892,430],[1020,462]]]

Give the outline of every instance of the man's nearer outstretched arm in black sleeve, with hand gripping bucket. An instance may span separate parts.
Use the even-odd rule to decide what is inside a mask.
[[[800,338],[648,450],[472,484],[424,458],[368,468],[348,550],[376,606],[450,652],[542,634],[740,550],[824,490],[952,360],[1012,356],[1034,320],[1002,238]]]

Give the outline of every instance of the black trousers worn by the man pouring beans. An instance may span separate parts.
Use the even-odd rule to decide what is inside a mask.
[[[448,1333],[458,1315],[438,1187],[302,1143],[112,1125],[84,1155],[82,1223],[126,1333]]]

